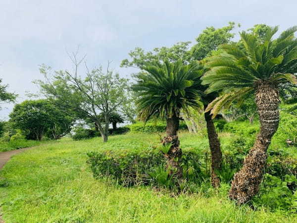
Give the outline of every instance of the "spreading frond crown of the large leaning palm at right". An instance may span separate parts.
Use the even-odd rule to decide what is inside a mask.
[[[224,53],[209,58],[209,69],[202,77],[208,84],[206,93],[223,91],[206,111],[215,116],[234,101],[244,101],[255,91],[257,83],[269,81],[285,91],[297,84],[297,39],[294,26],[272,39],[278,27],[265,29],[264,37],[243,31],[240,44],[222,46]]]

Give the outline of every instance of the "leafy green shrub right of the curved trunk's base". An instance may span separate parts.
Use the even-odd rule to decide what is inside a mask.
[[[284,181],[270,174],[264,175],[259,194],[253,199],[255,207],[266,206],[271,210],[297,211],[297,192],[289,189],[289,184],[297,184],[293,175],[285,175]]]

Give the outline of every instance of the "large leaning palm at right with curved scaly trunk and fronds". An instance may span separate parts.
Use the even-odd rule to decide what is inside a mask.
[[[225,53],[210,58],[210,70],[202,77],[209,84],[206,93],[223,94],[209,104],[206,111],[215,116],[233,101],[255,96],[260,120],[260,131],[249,151],[242,169],[232,181],[229,193],[239,204],[249,201],[259,190],[266,165],[267,148],[279,124],[280,91],[297,84],[297,26],[272,39],[278,27],[270,27],[264,37],[242,32],[239,44],[223,46]]]

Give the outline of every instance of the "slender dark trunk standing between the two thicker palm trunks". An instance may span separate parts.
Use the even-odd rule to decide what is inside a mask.
[[[207,105],[204,105],[204,109],[206,109],[206,107]],[[206,121],[208,142],[211,153],[211,184],[213,187],[217,188],[220,186],[220,178],[215,172],[222,169],[222,151],[213,120],[211,119],[210,111],[205,112],[204,117]]]

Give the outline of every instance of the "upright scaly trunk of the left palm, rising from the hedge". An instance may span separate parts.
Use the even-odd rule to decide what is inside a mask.
[[[170,169],[170,175],[173,174],[180,179],[183,176],[183,168],[181,167],[182,150],[179,148],[179,140],[177,136],[178,128],[179,117],[173,115],[171,118],[167,118],[166,136],[162,139],[162,144],[171,144],[169,152],[164,154],[167,160],[167,168]]]

